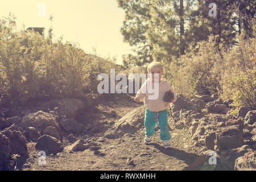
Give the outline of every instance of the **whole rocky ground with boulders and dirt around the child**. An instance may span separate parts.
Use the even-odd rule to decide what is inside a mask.
[[[144,107],[126,95],[92,107],[66,98],[5,110],[0,169],[255,170],[256,111],[242,107],[234,117],[227,114],[230,102],[179,94],[169,110],[168,149],[159,126],[152,143],[143,143]],[[46,164],[39,164],[39,151],[46,152]]]

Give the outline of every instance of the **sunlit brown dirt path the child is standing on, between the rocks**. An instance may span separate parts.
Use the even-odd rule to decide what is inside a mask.
[[[35,143],[27,144],[30,158],[27,160],[31,168],[24,170],[193,170],[192,164],[202,154],[203,148],[192,145],[192,139],[188,130],[177,130],[172,127],[174,123],[169,119],[172,127],[172,147],[165,149],[159,132],[156,131],[152,143],[145,145],[144,129],[134,134],[125,134],[117,139],[102,137],[104,132],[123,115],[130,110],[141,106],[132,100],[125,99],[118,102],[109,102],[108,105],[100,105],[83,115],[80,121],[88,125],[88,133],[76,136],[77,139],[90,140],[95,147],[84,151],[63,151],[57,155],[47,156],[47,164],[38,164],[38,151]],[[113,117],[114,112],[117,116]],[[93,127],[90,126],[93,123]],[[90,131],[90,132],[89,132]],[[68,142],[67,135],[63,137],[63,144]],[[127,158],[134,161],[134,165],[127,164]]]

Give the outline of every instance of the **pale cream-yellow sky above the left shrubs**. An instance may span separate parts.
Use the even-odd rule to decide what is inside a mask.
[[[43,6],[45,5],[45,11]],[[77,42],[85,53],[101,57],[117,58],[122,64],[122,55],[132,53],[133,47],[123,42],[121,27],[125,11],[118,7],[117,0],[8,0],[0,1],[0,18],[13,13],[18,28],[51,26],[49,16],[53,15],[55,40]],[[45,16],[44,16],[45,12]]]

